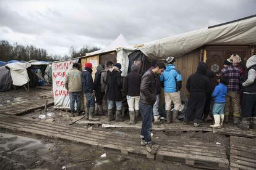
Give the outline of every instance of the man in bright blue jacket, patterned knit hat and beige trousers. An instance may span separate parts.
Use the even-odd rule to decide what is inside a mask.
[[[179,91],[181,90],[182,77],[174,65],[175,62],[174,57],[168,57],[166,59],[166,70],[160,76],[160,81],[164,83],[165,110],[168,123],[171,123],[171,121],[179,123],[177,116],[181,108],[181,94]],[[171,116],[172,101],[174,103],[173,118]]]

